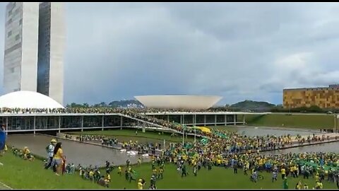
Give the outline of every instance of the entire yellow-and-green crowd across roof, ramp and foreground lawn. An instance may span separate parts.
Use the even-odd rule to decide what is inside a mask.
[[[174,110],[173,110],[174,111]],[[178,110],[176,110],[178,111]],[[178,125],[165,120],[160,120],[155,117],[145,115],[145,112],[172,112],[171,110],[148,110],[148,109],[121,109],[121,108],[66,108],[66,109],[6,109],[1,108],[0,112],[73,112],[73,113],[121,113],[129,115],[140,120],[152,122],[164,127],[169,127],[182,132],[193,132],[192,129],[186,128],[183,125]],[[156,188],[156,180],[163,178],[165,171],[165,163],[174,163],[177,165],[177,170],[182,174],[182,177],[189,175],[188,168],[191,166],[194,175],[198,174],[201,168],[212,170],[215,166],[224,168],[232,168],[234,174],[238,173],[238,169],[242,169],[245,175],[249,175],[250,179],[254,182],[260,181],[258,173],[262,171],[272,173],[272,181],[278,180],[278,175],[281,175],[284,188],[288,188],[287,178],[299,178],[302,176],[304,179],[314,178],[315,188],[323,188],[323,181],[336,183],[339,188],[339,154],[334,153],[304,153],[304,154],[261,154],[260,151],[268,151],[273,149],[281,149],[289,146],[295,142],[304,144],[304,142],[311,143],[312,141],[324,141],[329,137],[323,135],[309,136],[303,138],[297,136],[293,138],[290,134],[283,136],[256,136],[249,137],[237,132],[227,132],[218,129],[213,129],[212,132],[196,132],[198,135],[207,137],[208,141],[196,141],[192,143],[170,143],[165,149],[162,149],[159,155],[152,158],[153,175],[150,179],[150,188]],[[70,137],[67,137],[70,138]],[[80,141],[100,141],[102,145],[116,146],[120,144],[121,149],[137,150],[141,153],[148,153],[155,155],[155,149],[161,149],[161,144],[140,144],[137,141],[119,141],[115,138],[105,136],[91,136],[83,135],[78,137]],[[25,150],[26,149],[26,150]],[[23,151],[14,151],[18,156],[23,158],[30,157],[28,148]],[[45,168],[53,169],[56,175],[60,175],[66,171],[67,173],[74,173],[76,169],[79,170],[81,177],[86,180],[91,180],[95,183],[108,187],[110,182],[110,173],[114,169],[112,163],[106,162],[106,175],[101,175],[97,167],[83,168],[82,166],[74,167],[69,164],[68,170],[65,170],[66,157],[62,153],[61,143],[57,143],[52,139],[51,144],[47,146],[48,161],[46,161]],[[28,150],[28,151],[27,151]],[[157,166],[156,167],[156,164]],[[118,173],[121,174],[121,167],[118,167]],[[126,162],[125,176],[126,180],[136,180],[138,188],[145,187],[145,180],[138,179],[133,173],[131,166]],[[301,181],[295,188],[307,188],[308,186]]]

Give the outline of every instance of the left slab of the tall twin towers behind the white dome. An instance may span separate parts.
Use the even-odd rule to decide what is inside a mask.
[[[39,3],[8,3],[5,13],[4,91],[37,91]]]

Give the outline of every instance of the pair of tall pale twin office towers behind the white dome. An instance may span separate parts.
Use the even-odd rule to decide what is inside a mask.
[[[36,91],[63,104],[64,45],[63,4],[8,3],[4,91]]]

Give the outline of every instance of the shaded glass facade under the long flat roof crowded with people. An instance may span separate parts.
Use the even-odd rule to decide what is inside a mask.
[[[156,115],[155,115],[156,116]],[[172,122],[180,123],[180,115],[158,115],[163,118],[167,117]],[[196,125],[204,125],[206,117],[206,125],[215,124],[215,116],[217,116],[217,124],[225,124],[225,115],[196,115]],[[237,116],[237,115],[235,115]],[[234,115],[226,115],[227,124],[234,123]],[[194,115],[182,115],[184,124],[193,125]],[[6,119],[8,121],[6,122]],[[102,123],[103,122],[103,123]],[[133,120],[129,117],[121,117],[120,115],[66,115],[66,116],[8,116],[0,117],[0,125],[7,124],[8,131],[24,131],[24,130],[48,130],[48,129],[80,129],[91,127],[154,127],[154,125],[143,124],[143,121]]]

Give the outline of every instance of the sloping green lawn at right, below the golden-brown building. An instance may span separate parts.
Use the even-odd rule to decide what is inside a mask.
[[[251,126],[299,127],[304,129],[333,129],[333,115],[246,115]]]

